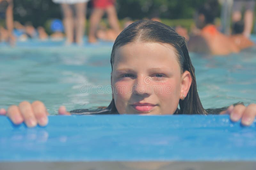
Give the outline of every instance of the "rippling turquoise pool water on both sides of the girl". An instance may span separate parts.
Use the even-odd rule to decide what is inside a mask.
[[[110,85],[113,43],[62,44],[50,40],[18,42],[15,48],[0,44],[1,108],[23,100],[43,101],[50,114],[57,114],[61,105],[68,110],[108,106],[111,94],[105,89]],[[255,53],[256,47],[228,56],[190,54],[204,108],[256,103]],[[85,85],[94,88],[84,93]],[[102,85],[100,94],[97,85]]]

